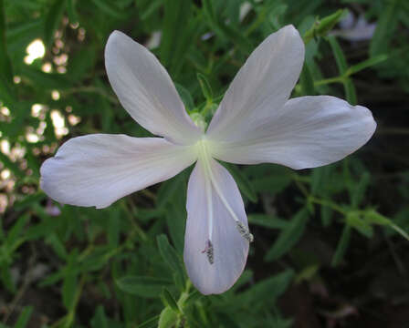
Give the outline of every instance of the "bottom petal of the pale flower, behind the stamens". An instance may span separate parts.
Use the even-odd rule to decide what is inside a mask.
[[[214,159],[209,161],[218,188],[230,209],[246,229],[246,212],[236,182]],[[228,290],[246,265],[248,241],[237,230],[236,221],[212,185],[205,163],[199,159],[189,179],[187,221],[184,234],[184,263],[194,286],[204,294]],[[210,216],[213,215],[213,223]],[[211,238],[209,237],[212,231]],[[214,263],[204,253],[207,241],[213,246]]]

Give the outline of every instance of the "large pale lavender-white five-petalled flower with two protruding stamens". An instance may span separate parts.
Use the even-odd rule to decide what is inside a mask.
[[[217,160],[315,168],[359,149],[375,130],[367,108],[337,97],[288,100],[303,60],[304,44],[293,26],[268,36],[237,73],[204,132],[187,115],[157,58],[115,31],[105,49],[110,84],[131,117],[163,138],[72,138],[44,162],[41,188],[61,203],[101,209],[195,162],[184,263],[200,292],[225,292],[243,272],[253,236],[236,182]]]

